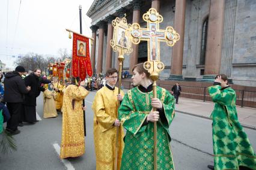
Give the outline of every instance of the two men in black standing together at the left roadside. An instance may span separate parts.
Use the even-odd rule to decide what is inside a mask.
[[[36,98],[44,92],[41,83],[50,83],[50,80],[41,78],[41,70],[26,74],[23,66],[17,66],[14,71],[4,75],[4,98],[10,119],[7,121],[6,131],[11,135],[20,133],[18,126],[23,122],[34,124],[36,119]],[[5,117],[4,116],[4,117]]]

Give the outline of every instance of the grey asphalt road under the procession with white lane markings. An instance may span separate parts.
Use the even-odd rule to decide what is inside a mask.
[[[61,144],[62,116],[43,119],[43,99],[37,99],[37,113],[41,121],[35,125],[20,127],[21,133],[14,135],[17,151],[0,154],[0,169],[96,169],[93,143],[93,111],[91,102],[96,92],[91,92],[85,99],[87,105],[85,154],[81,157],[61,160],[58,147]],[[171,147],[175,169],[207,169],[213,164],[212,122],[200,117],[176,113],[170,127]],[[256,131],[245,129],[254,149]]]

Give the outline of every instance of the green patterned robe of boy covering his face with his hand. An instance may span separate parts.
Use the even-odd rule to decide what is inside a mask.
[[[211,86],[215,102],[213,120],[213,153],[215,169],[256,169],[256,156],[246,133],[237,119],[236,92],[231,87]]]

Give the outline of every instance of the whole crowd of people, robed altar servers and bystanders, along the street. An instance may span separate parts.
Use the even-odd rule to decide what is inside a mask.
[[[156,87],[157,98],[153,98],[153,84],[143,64],[135,65],[132,71],[134,87],[124,94],[115,87],[115,68],[108,69],[105,76],[61,81],[55,77],[41,78],[40,69],[22,78],[25,69],[17,66],[4,79],[7,108],[0,105],[0,109],[10,112],[10,117],[5,116],[6,130],[15,135],[20,133],[17,126],[22,126],[22,122],[37,122],[36,98],[43,92],[43,117],[56,117],[62,112],[61,159],[81,156],[85,153],[83,110],[87,108],[82,101],[91,90],[97,90],[92,104],[96,169],[154,169],[154,123],[159,134],[157,169],[174,169],[169,126],[175,117],[181,87],[176,83],[171,93]],[[208,91],[215,102],[211,115],[215,165],[208,167],[256,169],[256,155],[237,119],[236,92],[228,86],[227,76],[217,75]]]

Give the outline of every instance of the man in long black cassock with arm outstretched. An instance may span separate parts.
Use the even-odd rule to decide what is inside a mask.
[[[35,71],[24,78],[26,86],[30,86],[31,90],[28,94],[25,95],[25,100],[23,102],[24,106],[24,115],[23,122],[28,122],[34,124],[37,122],[36,110],[37,97],[40,95],[40,92],[44,92],[44,88],[41,87],[41,83],[48,84],[50,80],[44,80],[40,78],[41,70],[35,69]]]

